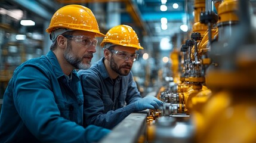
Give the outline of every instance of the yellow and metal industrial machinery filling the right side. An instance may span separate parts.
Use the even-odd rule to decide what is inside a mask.
[[[200,23],[197,6],[205,10]],[[158,92],[164,106],[149,110],[146,138],[133,142],[256,142],[256,29],[249,1],[195,0],[196,18],[191,38],[171,54],[173,61],[182,55],[174,64],[181,68],[171,67],[173,80]]]

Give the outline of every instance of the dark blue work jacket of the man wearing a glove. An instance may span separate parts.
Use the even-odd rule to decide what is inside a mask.
[[[79,70],[85,100],[85,123],[112,129],[132,112],[140,92],[130,72],[127,76],[109,77],[104,58],[88,70]]]

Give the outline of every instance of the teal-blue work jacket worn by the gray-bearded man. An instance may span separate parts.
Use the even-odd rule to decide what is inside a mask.
[[[0,142],[94,142],[108,129],[83,126],[81,82],[64,75],[55,54],[18,66],[8,83],[0,115]]]

